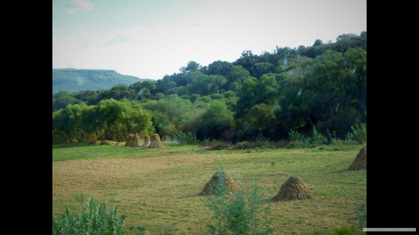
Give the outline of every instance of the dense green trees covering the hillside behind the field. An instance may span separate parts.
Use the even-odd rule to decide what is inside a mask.
[[[200,140],[288,138],[313,126],[337,136],[366,123],[367,33],[343,34],[336,43],[254,55],[201,66],[189,61],[180,73],[157,82],[109,90],[60,91],[52,96],[53,141],[109,139],[128,133],[172,137],[178,130]]]

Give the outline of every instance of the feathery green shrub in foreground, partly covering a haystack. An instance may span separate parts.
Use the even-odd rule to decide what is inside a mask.
[[[219,177],[220,178],[220,177]],[[222,186],[225,182],[220,182]],[[214,235],[263,235],[272,234],[271,221],[266,219],[269,204],[262,202],[260,187],[253,186],[253,192],[239,191],[233,198],[226,194],[208,196],[208,207],[212,216],[207,225],[207,233]]]

